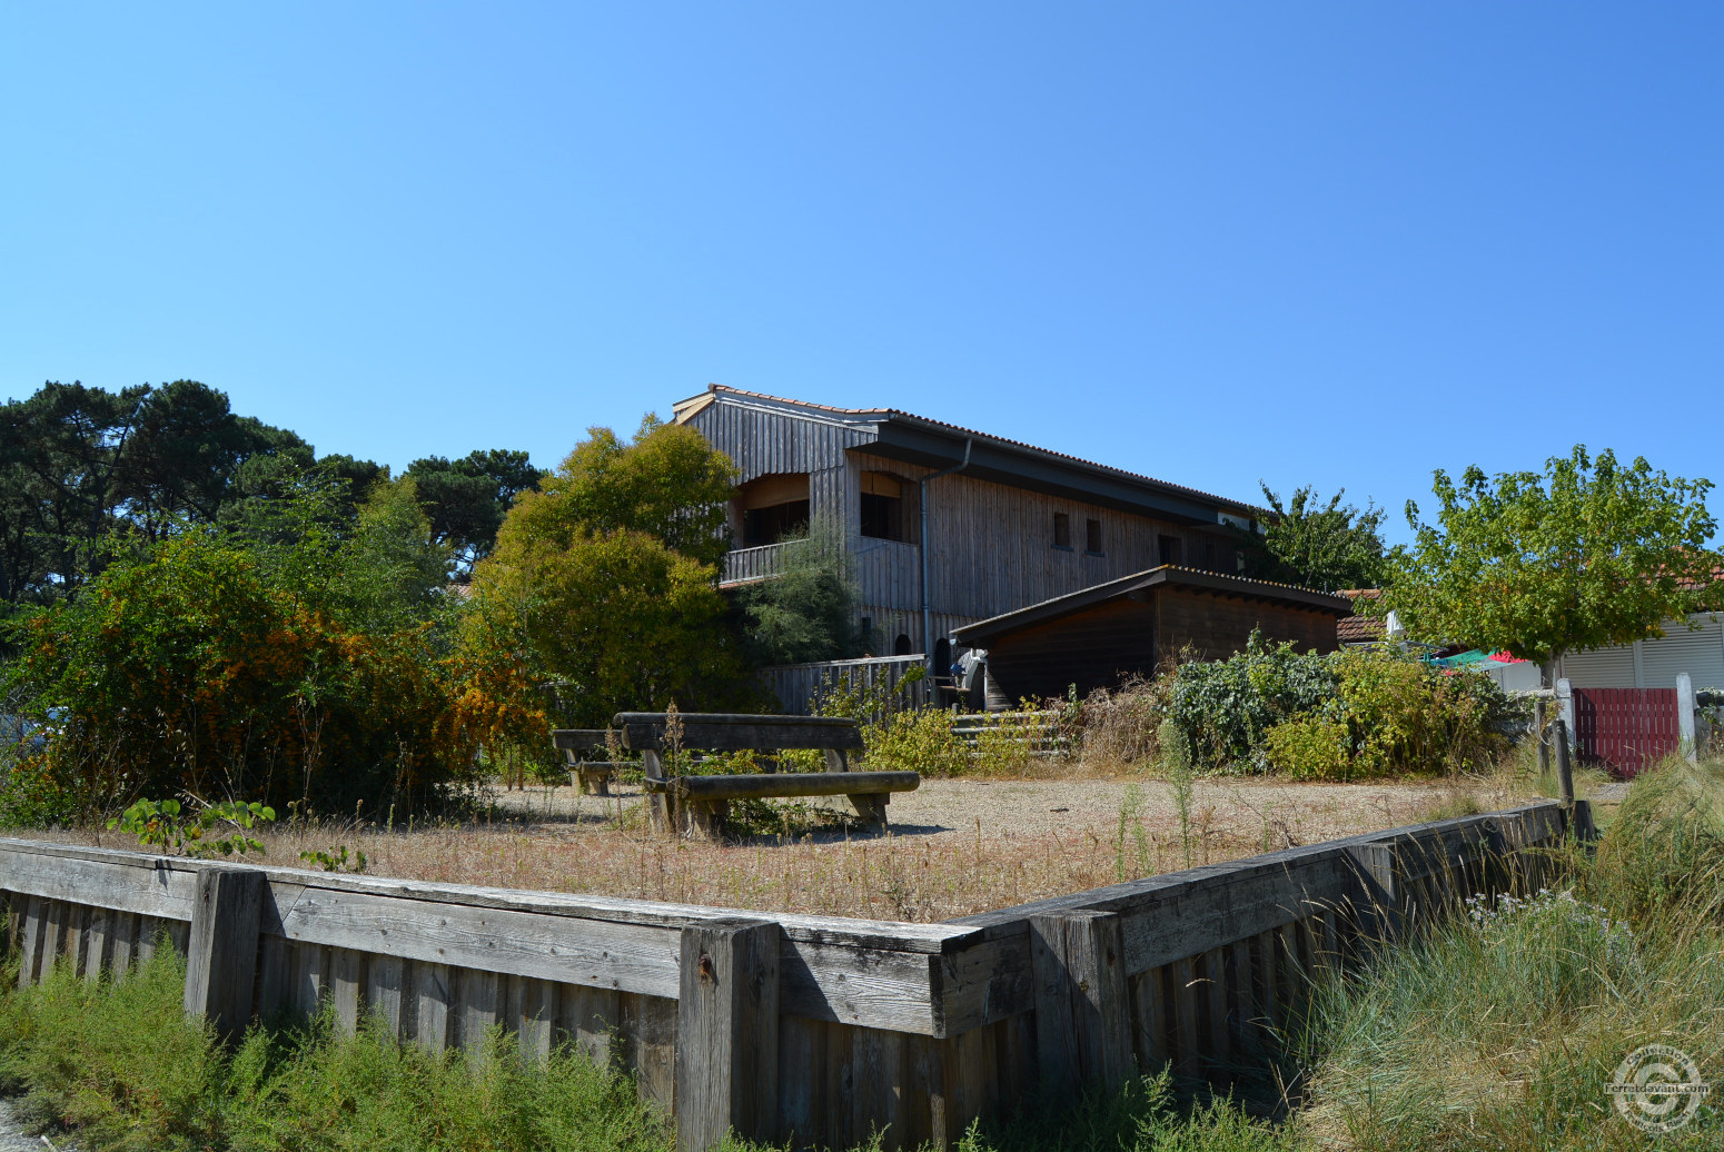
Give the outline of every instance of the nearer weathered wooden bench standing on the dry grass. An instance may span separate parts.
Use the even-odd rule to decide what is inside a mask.
[[[717,840],[731,800],[765,797],[846,797],[864,821],[886,824],[893,792],[921,786],[917,773],[850,771],[850,754],[862,750],[862,729],[853,719],[824,716],[746,716],[731,712],[679,712],[681,736],[669,738],[665,712],[617,712],[612,728],[622,747],[641,754],[646,802],[653,824]],[[664,754],[790,752],[815,748],[826,757],[824,773],[760,773],[748,776],[667,776]]]

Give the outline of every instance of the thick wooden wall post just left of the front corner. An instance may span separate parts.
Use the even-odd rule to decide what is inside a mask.
[[[683,930],[676,1004],[676,1147],[731,1133],[767,1142],[778,1118],[778,952],[772,921]]]

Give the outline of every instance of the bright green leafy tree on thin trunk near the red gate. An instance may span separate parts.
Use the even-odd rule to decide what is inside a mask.
[[[1407,502],[1410,548],[1391,554],[1376,610],[1421,640],[1508,650],[1550,664],[1564,652],[1662,636],[1660,621],[1719,607],[1707,548],[1712,481],[1622,466],[1576,445],[1540,473],[1460,483],[1434,474],[1434,524]]]

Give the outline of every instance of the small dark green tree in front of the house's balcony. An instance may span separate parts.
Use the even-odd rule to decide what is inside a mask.
[[[786,536],[779,567],[738,588],[743,647],[753,664],[803,664],[855,655],[855,578],[838,524],[815,519]]]

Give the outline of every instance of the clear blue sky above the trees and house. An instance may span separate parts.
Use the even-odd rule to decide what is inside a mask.
[[[1717,3],[7,0],[0,397],[400,467],[719,381],[1395,538],[1576,441],[1724,481],[1721,60]]]

